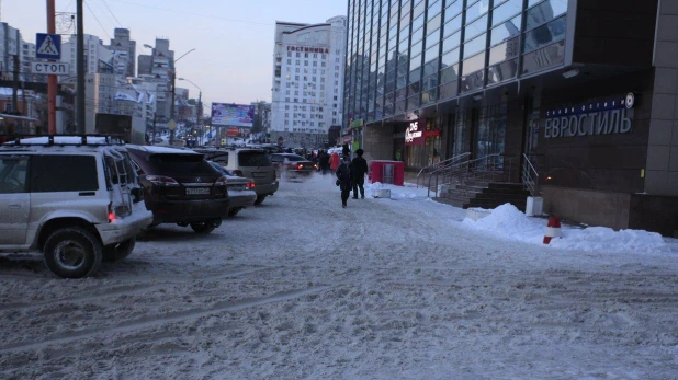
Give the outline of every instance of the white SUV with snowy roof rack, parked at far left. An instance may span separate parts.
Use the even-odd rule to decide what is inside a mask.
[[[41,251],[60,277],[122,260],[152,221],[126,148],[49,136],[0,146],[0,252]]]

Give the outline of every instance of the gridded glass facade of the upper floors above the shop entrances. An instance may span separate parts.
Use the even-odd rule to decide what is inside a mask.
[[[568,0],[349,0],[344,127],[564,60]]]

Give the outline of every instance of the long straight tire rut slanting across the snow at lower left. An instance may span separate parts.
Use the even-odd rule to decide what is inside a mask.
[[[237,310],[242,310],[242,309],[247,309],[250,307],[257,307],[257,306],[262,306],[262,304],[272,303],[272,302],[285,301],[285,300],[297,298],[297,297],[308,296],[308,295],[313,295],[316,292],[327,290],[329,288],[330,288],[329,286],[324,286],[324,287],[315,287],[315,288],[302,289],[302,290],[289,290],[289,291],[278,292],[272,296],[263,297],[263,298],[241,299],[241,300],[227,301],[227,302],[216,302],[215,307],[210,308],[210,309],[191,309],[191,310],[167,313],[160,318],[143,318],[143,319],[135,320],[135,321],[127,321],[124,323],[120,323],[116,326],[111,327],[111,329],[104,329],[104,330],[84,329],[84,330],[77,331],[77,332],[65,332],[63,334],[58,334],[57,336],[50,337],[43,342],[19,342],[19,343],[13,343],[9,345],[3,345],[3,346],[0,346],[0,353],[11,353],[11,352],[18,352],[18,350],[23,350],[23,349],[36,349],[36,348],[43,348],[43,347],[54,345],[54,344],[63,345],[65,343],[94,336],[98,334],[110,335],[111,333],[118,333],[118,332],[125,332],[125,331],[131,331],[131,330],[152,327],[155,325],[159,325],[159,324],[163,324],[168,322],[176,322],[176,321],[182,321],[187,319],[206,316],[215,312],[237,311]]]

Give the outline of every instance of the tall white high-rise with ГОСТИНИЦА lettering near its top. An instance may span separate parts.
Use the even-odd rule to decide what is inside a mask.
[[[341,125],[346,18],[323,24],[275,23],[271,141],[319,147]]]

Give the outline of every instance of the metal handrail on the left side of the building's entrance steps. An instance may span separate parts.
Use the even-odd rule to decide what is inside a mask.
[[[438,189],[441,185],[441,176],[443,177],[442,184],[447,185],[467,181],[496,181],[497,179],[504,179],[506,164],[509,165],[510,172],[512,160],[500,161],[502,157],[499,153],[488,154],[479,159],[459,162],[432,171],[429,175],[427,196],[430,196],[433,177],[436,177],[436,197],[438,197]]]

